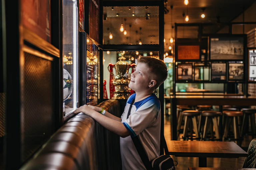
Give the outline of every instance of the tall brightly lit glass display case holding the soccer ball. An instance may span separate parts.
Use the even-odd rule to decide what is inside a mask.
[[[76,0],[63,0],[63,113],[78,105],[78,9]]]

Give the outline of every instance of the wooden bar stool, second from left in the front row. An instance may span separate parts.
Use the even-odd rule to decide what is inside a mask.
[[[217,140],[220,139],[219,125],[218,125],[217,118],[220,117],[221,115],[222,113],[218,111],[202,111],[202,117],[205,117],[204,132],[202,136],[203,140],[206,138],[209,128],[211,129],[211,139],[214,140],[213,127],[215,129],[216,139]]]

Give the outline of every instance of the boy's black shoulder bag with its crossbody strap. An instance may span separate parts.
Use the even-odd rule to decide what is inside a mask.
[[[131,114],[131,109],[132,109],[132,105],[134,103],[134,100],[135,99],[133,99],[133,101],[130,105],[130,108],[129,108],[129,111],[128,111],[128,114],[127,114],[127,119]],[[164,144],[165,155],[160,155],[160,156],[158,156],[157,158],[155,158],[151,161],[149,161],[149,159],[147,157],[147,154],[146,154],[138,136],[135,136],[135,137],[131,136],[131,138],[132,138],[132,141],[133,141],[133,143],[134,143],[134,145],[135,145],[135,147],[136,147],[136,149],[137,149],[137,151],[140,155],[140,158],[141,158],[141,160],[142,160],[142,162],[145,165],[147,170],[176,170],[175,166],[178,165],[178,162],[175,161],[177,163],[175,165],[173,159],[169,155],[168,147],[167,147],[167,144],[166,144],[166,141],[165,141],[164,134],[163,134],[162,130],[161,130],[160,136],[161,136],[161,141]]]

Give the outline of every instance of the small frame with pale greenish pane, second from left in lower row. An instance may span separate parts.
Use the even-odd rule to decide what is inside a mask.
[[[202,81],[210,80],[210,65],[208,63],[195,63],[194,67],[194,80]]]

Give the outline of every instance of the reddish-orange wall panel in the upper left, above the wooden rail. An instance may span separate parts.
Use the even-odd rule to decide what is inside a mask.
[[[51,0],[21,0],[22,25],[51,43]]]

